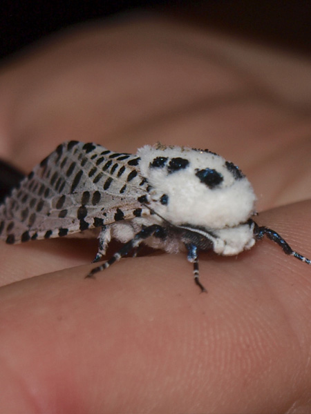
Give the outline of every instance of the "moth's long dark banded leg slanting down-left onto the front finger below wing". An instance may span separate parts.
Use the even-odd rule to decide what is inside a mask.
[[[158,224],[152,224],[151,226],[143,228],[142,230],[140,230],[140,232],[138,232],[135,235],[135,237],[133,237],[133,239],[124,244],[124,246],[122,246],[122,248],[120,248],[120,250],[117,253],[115,253],[113,257],[111,257],[111,259],[107,260],[107,262],[105,262],[101,266],[93,268],[86,277],[93,277],[95,273],[101,272],[102,270],[109,268],[111,264],[117,262],[122,257],[126,256],[129,253],[129,251],[131,251],[133,248],[138,247],[144,239],[151,237],[155,233],[158,234],[161,230],[162,227]]]

